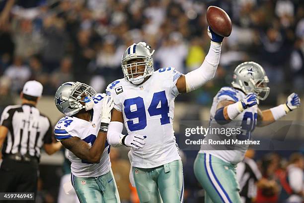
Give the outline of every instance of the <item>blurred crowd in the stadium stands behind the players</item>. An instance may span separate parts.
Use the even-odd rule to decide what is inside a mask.
[[[5,8],[9,3],[12,7]],[[123,77],[121,56],[134,42],[152,45],[155,70],[171,66],[187,73],[199,67],[210,44],[205,15],[209,5],[228,12],[232,33],[223,42],[215,79],[176,99],[177,135],[181,119],[209,120],[214,95],[229,85],[235,66],[246,60],[260,63],[270,80],[262,109],[285,102],[292,92],[303,96],[303,0],[0,0],[0,112],[20,102],[26,81],[37,80],[44,86],[38,108],[55,124],[61,116],[54,104],[57,88],[80,81],[103,92]],[[303,107],[284,119],[304,120]],[[119,150],[117,162],[128,168],[127,149]],[[202,200],[193,176],[196,153],[185,151],[183,156],[188,203]],[[275,179],[274,172],[287,166],[292,153],[257,151],[255,159],[264,167],[264,177]],[[37,202],[57,202],[63,162],[62,152],[42,156]],[[128,176],[120,179],[128,182]],[[128,184],[119,187],[132,199]]]

